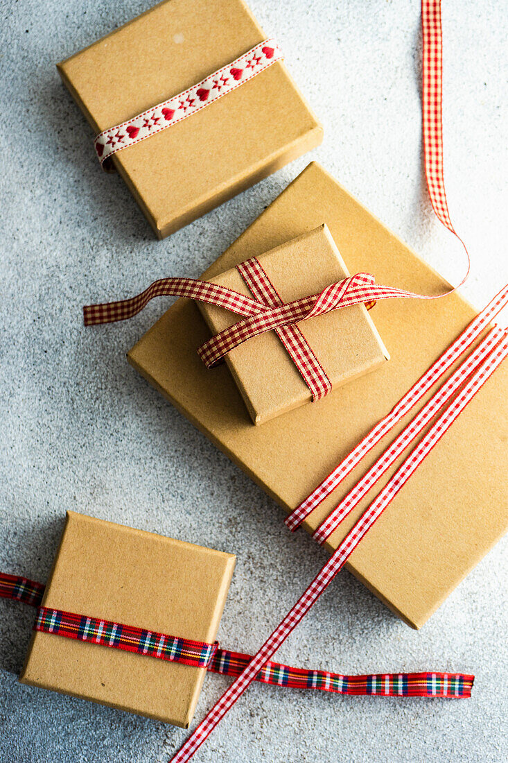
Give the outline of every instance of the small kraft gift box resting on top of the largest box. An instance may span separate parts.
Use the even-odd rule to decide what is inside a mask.
[[[285,304],[318,294],[331,283],[349,276],[326,224],[263,253],[256,260],[263,278],[268,277],[274,293]],[[249,291],[236,268],[211,281],[249,297],[257,296],[257,290],[253,294]],[[196,304],[214,334],[238,321],[237,315],[221,307],[205,302]],[[363,304],[301,321],[296,329],[298,348],[303,343],[304,349],[309,349],[317,365],[318,381],[324,378],[329,390],[377,369],[389,359]],[[304,381],[289,347],[292,355],[275,332],[269,331],[227,353],[226,362],[256,424],[297,408],[313,397],[312,384]]]

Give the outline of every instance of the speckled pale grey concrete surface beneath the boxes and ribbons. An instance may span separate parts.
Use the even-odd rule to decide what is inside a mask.
[[[126,350],[169,301],[89,332],[81,305],[162,275],[197,276],[311,157],[154,240],[121,180],[98,169],[54,66],[148,5],[5,0],[0,9],[0,568],[44,580],[67,508],[235,552],[220,639],[255,650],[324,552],[291,536],[275,504],[127,365]],[[422,174],[417,0],[251,5],[323,121],[312,158],[457,282],[464,256],[432,216]],[[506,5],[448,0],[444,33],[447,189],[471,250],[463,293],[481,307],[508,281]],[[342,573],[279,655],[349,672],[471,671],[471,700],[251,687],[196,760],[506,760],[503,552],[501,543],[419,633]],[[0,601],[0,759],[166,761],[181,729],[17,683],[32,621]],[[207,679],[198,718],[225,686]]]

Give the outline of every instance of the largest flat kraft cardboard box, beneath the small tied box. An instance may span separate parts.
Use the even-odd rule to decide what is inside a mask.
[[[214,278],[323,222],[350,272],[371,272],[379,284],[428,295],[449,288],[315,163],[214,262],[204,278]],[[434,301],[379,301],[371,316],[391,360],[318,403],[291,410],[260,427],[252,426],[227,367],[207,370],[198,358],[196,349],[209,338],[210,330],[193,302],[177,301],[128,357],[195,426],[290,511],[391,410],[474,315],[474,309],[456,293]],[[505,363],[349,558],[349,570],[415,628],[425,623],[508,526],[507,392]],[[307,517],[307,530],[316,530],[415,412]],[[378,489],[330,536],[329,549],[338,546]]]

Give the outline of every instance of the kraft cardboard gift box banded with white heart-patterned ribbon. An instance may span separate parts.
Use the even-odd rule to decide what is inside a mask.
[[[229,66],[265,37],[243,0],[167,0],[59,63],[95,135],[121,126],[108,140],[125,143],[126,130],[141,128],[111,159],[159,238],[321,142],[323,130],[284,63],[266,59],[273,45],[260,49],[260,63]],[[251,76],[252,66],[263,70]],[[188,92],[223,67],[216,83]],[[185,97],[157,114],[140,140],[144,123],[129,121],[145,111],[150,118],[150,108],[178,94]],[[197,106],[206,108],[188,116]]]

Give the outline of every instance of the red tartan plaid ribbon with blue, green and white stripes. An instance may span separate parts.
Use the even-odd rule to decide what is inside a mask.
[[[42,607],[44,586],[27,578],[0,572],[0,597],[37,607],[34,630],[53,633],[89,644],[108,646],[171,662],[182,662],[211,673],[238,676],[252,655],[220,649],[178,636],[166,636],[142,628],[101,620],[72,612]],[[294,689],[317,689],[332,694],[376,695],[379,697],[470,697],[474,676],[458,673],[384,673],[342,675],[330,671],[291,668],[268,661],[256,674],[256,681]]]

